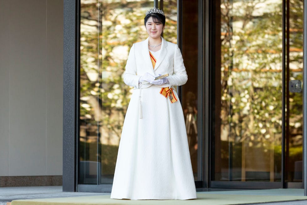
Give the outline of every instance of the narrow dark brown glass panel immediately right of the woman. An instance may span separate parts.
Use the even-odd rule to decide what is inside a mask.
[[[201,181],[201,142],[200,135],[200,118],[199,106],[201,106],[201,93],[198,85],[198,1],[181,1],[182,2],[182,21],[180,33],[181,52],[185,63],[185,69],[188,75],[188,81],[182,86],[182,108],[185,115],[185,125],[188,136],[188,144],[191,156],[192,169],[195,181]],[[198,182],[196,187],[198,187]]]

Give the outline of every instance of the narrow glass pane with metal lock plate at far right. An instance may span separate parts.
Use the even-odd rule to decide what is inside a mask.
[[[302,182],[303,169],[303,11],[304,0],[287,2],[287,67],[286,82],[286,153],[285,181],[288,187],[303,188],[302,184],[291,186],[292,182]]]

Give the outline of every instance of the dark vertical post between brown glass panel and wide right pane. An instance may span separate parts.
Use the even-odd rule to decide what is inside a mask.
[[[199,170],[202,172],[203,187],[210,188],[210,118],[209,118],[209,68],[210,68],[210,35],[211,31],[211,1],[198,0],[198,93],[201,93],[197,109],[199,110],[198,131],[199,147],[198,155],[203,157]]]

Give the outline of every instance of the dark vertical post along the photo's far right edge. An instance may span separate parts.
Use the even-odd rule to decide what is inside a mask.
[[[303,25],[303,183],[304,196],[307,196],[307,0],[304,0]]]

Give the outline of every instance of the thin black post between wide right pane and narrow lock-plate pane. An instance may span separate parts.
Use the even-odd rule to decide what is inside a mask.
[[[283,45],[283,54],[282,54],[282,139],[281,139],[281,188],[285,188],[285,134],[286,134],[286,1],[283,0],[283,16],[282,16],[282,45]]]

